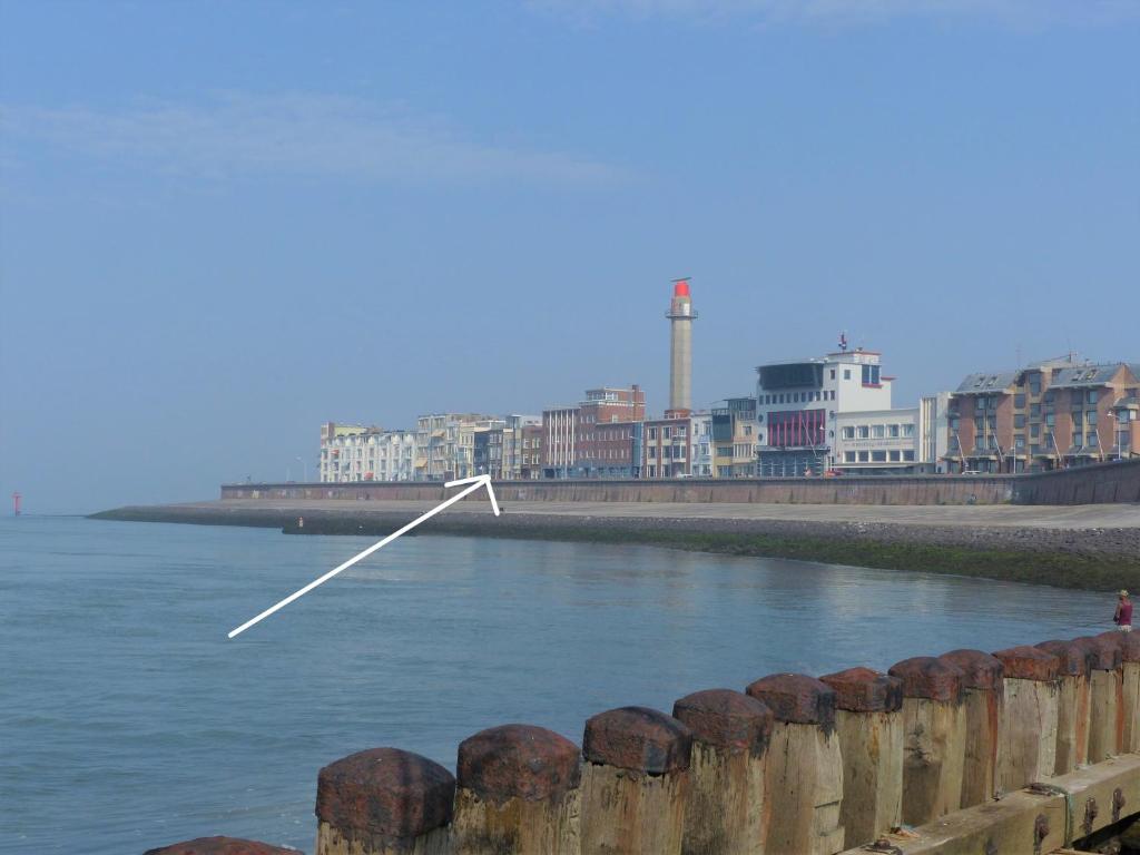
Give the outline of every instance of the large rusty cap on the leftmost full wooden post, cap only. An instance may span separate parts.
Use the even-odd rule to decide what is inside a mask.
[[[317,775],[317,819],[345,837],[407,842],[451,821],[455,779],[410,751],[373,748]]]

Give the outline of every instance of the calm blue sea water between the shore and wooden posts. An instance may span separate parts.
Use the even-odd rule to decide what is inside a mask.
[[[1112,596],[650,547],[0,521],[0,852],[204,834],[312,850],[317,771],[776,670],[1100,632]]]

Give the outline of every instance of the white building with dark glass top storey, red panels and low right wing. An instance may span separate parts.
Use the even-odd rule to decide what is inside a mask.
[[[756,373],[757,474],[915,471],[919,409],[891,408],[894,377],[877,351],[771,363]]]

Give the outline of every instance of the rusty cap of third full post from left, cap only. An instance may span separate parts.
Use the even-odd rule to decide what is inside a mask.
[[[581,752],[591,763],[665,775],[689,768],[692,742],[692,731],[673,716],[620,707],[586,722]]]

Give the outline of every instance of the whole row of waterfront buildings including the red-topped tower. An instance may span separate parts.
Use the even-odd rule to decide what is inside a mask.
[[[674,283],[669,401],[601,385],[542,414],[432,413],[415,427],[329,422],[319,480],[803,478],[1044,472],[1140,455],[1140,363],[1075,353],[979,370],[895,406],[883,355],[849,347],[756,368],[756,390],[692,408],[697,311]]]

